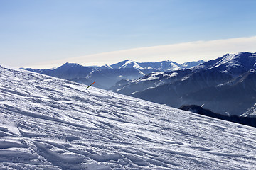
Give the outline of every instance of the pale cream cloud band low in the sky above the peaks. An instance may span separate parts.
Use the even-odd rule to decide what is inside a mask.
[[[198,60],[213,60],[225,54],[235,54],[239,52],[254,52],[256,36],[229,38],[209,41],[182,42],[170,45],[156,45],[151,47],[137,47],[126,50],[111,52],[100,52],[92,55],[82,55],[79,57],[68,57],[60,60],[52,60],[20,66],[33,69],[50,69],[58,67],[63,63],[76,63],[83,66],[111,65],[124,60],[136,62],[161,62],[170,60],[171,62],[184,63]],[[129,57],[128,57],[129,56]]]

